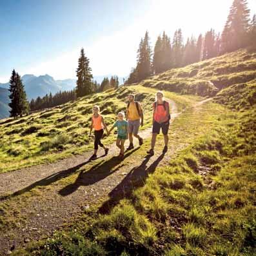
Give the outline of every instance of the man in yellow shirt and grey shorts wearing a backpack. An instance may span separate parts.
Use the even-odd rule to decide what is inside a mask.
[[[143,138],[138,135],[139,126],[143,126],[143,109],[141,104],[134,101],[135,95],[128,95],[128,105],[126,110],[126,119],[128,120],[128,134],[130,145],[127,150],[132,150],[133,146],[133,136],[139,139],[139,145],[143,144]]]

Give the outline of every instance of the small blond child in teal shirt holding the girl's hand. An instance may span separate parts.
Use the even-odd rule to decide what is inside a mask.
[[[117,127],[117,141],[116,145],[120,148],[119,158],[124,159],[124,143],[128,139],[128,123],[124,120],[124,112],[117,114],[118,120],[113,124],[109,130],[108,135],[112,132],[113,128]]]

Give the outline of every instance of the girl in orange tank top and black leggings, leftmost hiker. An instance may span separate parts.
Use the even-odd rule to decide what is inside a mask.
[[[101,146],[101,148],[104,148],[105,155],[108,154],[108,148],[106,148],[101,143],[101,138],[103,137],[104,128],[106,129],[107,133],[108,133],[108,128],[106,127],[103,116],[99,114],[99,106],[95,105],[94,108],[92,108],[92,111],[93,111],[93,115],[92,115],[92,123],[90,127],[90,136],[92,134],[92,128],[94,128],[94,154],[92,155],[91,159],[96,159],[99,146]]]

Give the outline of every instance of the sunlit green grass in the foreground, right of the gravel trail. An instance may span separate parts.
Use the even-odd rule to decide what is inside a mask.
[[[187,146],[168,166],[143,186],[133,184],[110,213],[89,210],[17,255],[253,255],[256,161],[248,136],[255,136],[254,121],[251,111],[213,103],[187,107],[170,133],[174,145],[186,137]]]

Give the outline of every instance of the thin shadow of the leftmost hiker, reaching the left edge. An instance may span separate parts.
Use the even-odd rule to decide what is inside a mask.
[[[76,172],[77,170],[79,170],[79,168],[81,168],[82,166],[84,166],[85,164],[88,164],[89,162],[91,162],[90,159],[88,159],[88,161],[86,162],[82,162],[81,164],[78,164],[77,166],[74,166],[72,168],[63,170],[63,171],[59,171],[57,173],[54,173],[44,179],[41,179],[40,181],[36,181],[32,184],[30,184],[29,186],[26,186],[26,188],[23,188],[21,190],[18,190],[10,195],[3,195],[0,197],[0,201],[5,201],[6,199],[10,199],[11,197],[15,197],[17,195],[21,195],[25,192],[28,192],[30,190],[32,190],[33,188],[37,187],[37,186],[48,186],[51,183],[55,182],[55,181],[59,181],[60,179],[63,179],[65,177],[68,177],[69,175],[71,175],[72,173]]]

